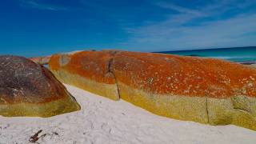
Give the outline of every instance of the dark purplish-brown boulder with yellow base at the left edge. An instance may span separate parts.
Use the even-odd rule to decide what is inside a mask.
[[[50,117],[80,110],[45,67],[18,56],[0,56],[0,115]]]

